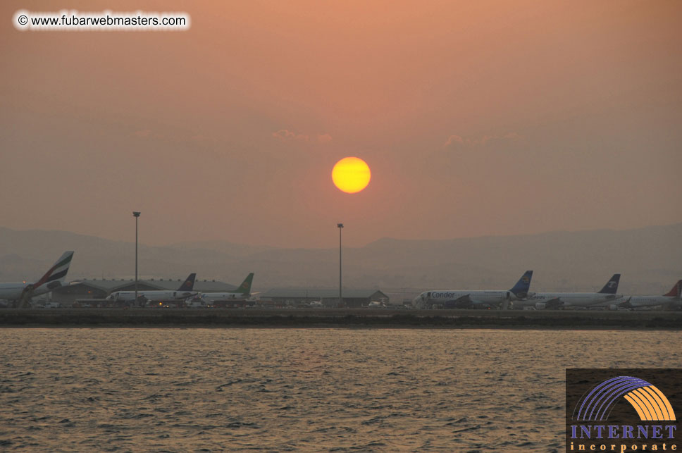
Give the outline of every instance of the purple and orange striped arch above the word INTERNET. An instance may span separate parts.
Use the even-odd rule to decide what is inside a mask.
[[[576,405],[574,419],[607,420],[621,397],[632,405],[641,421],[676,420],[667,397],[655,385],[632,376],[618,376],[595,385]]]

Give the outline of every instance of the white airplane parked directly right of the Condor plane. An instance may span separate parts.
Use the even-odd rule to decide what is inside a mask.
[[[613,304],[614,301],[623,297],[616,294],[620,279],[621,274],[614,274],[600,292],[536,292],[517,306],[532,306],[535,309],[562,309],[565,306],[588,307]]]

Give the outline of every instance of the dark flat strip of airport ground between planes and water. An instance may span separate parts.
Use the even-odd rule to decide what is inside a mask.
[[[0,327],[559,328],[680,330],[682,311],[5,309]]]

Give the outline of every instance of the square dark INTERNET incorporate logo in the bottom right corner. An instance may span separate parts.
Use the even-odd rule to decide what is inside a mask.
[[[682,369],[567,368],[566,452],[677,451],[681,405]]]

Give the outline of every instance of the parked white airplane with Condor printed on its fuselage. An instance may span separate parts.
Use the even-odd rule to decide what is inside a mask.
[[[412,305],[418,309],[431,306],[442,306],[445,309],[466,309],[508,304],[510,301],[528,297],[531,278],[533,278],[533,271],[526,271],[516,282],[516,285],[507,291],[426,291],[415,297]]]

